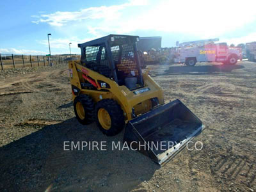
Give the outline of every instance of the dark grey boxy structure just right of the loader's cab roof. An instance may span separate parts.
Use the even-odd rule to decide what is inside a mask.
[[[140,37],[138,42],[138,50],[144,52],[150,49],[161,49],[162,37],[161,36],[147,36]]]

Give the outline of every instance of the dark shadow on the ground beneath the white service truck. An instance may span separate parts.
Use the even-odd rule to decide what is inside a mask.
[[[156,74],[156,76],[168,76],[169,74],[211,74],[214,72],[232,72],[239,68],[244,68],[243,65],[197,65],[194,67],[188,67],[184,65],[171,66],[168,70],[164,70],[163,73]]]

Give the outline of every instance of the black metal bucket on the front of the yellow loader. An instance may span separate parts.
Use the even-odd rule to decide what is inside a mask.
[[[158,164],[169,161],[202,132],[204,125],[180,100],[130,120],[124,142]]]

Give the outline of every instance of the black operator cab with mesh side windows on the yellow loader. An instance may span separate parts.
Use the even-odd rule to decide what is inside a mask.
[[[143,86],[136,45],[138,40],[139,36],[108,35],[78,44],[81,48],[81,63],[113,79],[118,85],[134,90]]]

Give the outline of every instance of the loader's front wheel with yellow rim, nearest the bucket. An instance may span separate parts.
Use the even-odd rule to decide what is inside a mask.
[[[115,136],[124,129],[124,111],[113,99],[103,99],[95,107],[96,122],[103,134]]]

